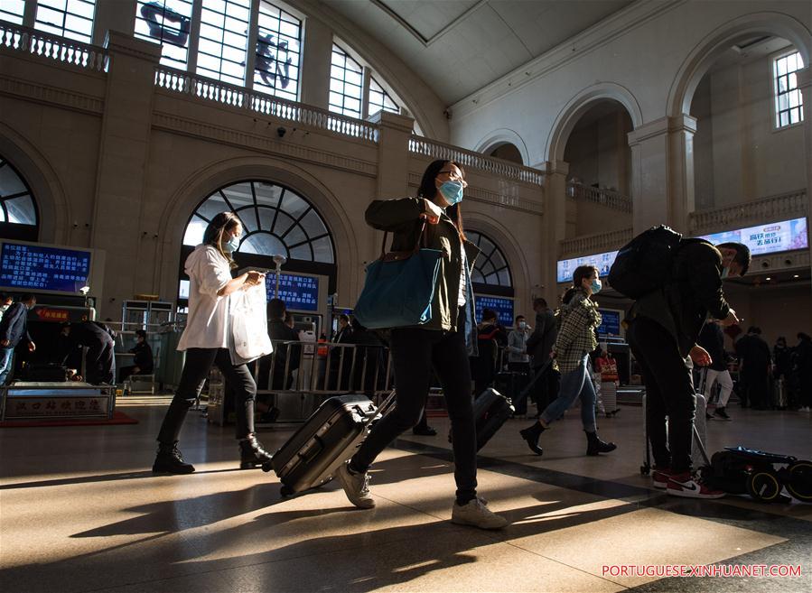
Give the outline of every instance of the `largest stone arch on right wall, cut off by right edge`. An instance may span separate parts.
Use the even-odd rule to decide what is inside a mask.
[[[667,115],[678,117],[689,113],[696,87],[714,61],[739,39],[760,33],[776,35],[792,42],[809,66],[812,33],[803,23],[786,14],[745,14],[708,33],[688,54],[668,91]]]

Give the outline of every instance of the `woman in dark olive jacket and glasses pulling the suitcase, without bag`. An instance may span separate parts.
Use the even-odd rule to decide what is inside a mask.
[[[434,161],[423,174],[416,198],[378,199],[367,208],[370,227],[394,233],[392,251],[411,251],[425,221],[426,246],[442,250],[443,256],[432,299],[432,319],[425,325],[391,332],[395,409],[374,425],[352,459],[339,469],[338,477],[353,505],[375,506],[367,470],[392,440],[420,420],[434,367],[443,385],[454,435],[457,492],[452,522],[498,529],[508,522],[491,513],[476,494],[476,430],[468,357],[476,354],[471,266],[479,249],[465,240],[462,230],[460,202],[465,185],[457,163]]]

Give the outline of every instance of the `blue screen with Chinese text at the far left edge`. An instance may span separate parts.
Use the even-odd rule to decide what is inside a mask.
[[[0,285],[10,288],[79,292],[89,275],[87,251],[4,243],[0,254]]]

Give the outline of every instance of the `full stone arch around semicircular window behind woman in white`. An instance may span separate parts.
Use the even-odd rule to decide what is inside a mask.
[[[177,283],[178,257],[189,217],[201,203],[219,188],[247,179],[281,183],[308,199],[323,218],[336,248],[339,268],[339,292],[351,292],[359,286],[359,246],[350,225],[350,217],[341,201],[321,181],[303,168],[273,157],[235,157],[201,166],[183,180],[167,200],[161,215],[158,236],[162,238],[156,261],[160,270],[161,293],[173,293]],[[156,280],[158,280],[156,278]]]

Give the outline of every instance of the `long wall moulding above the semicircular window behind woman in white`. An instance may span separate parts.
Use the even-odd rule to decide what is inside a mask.
[[[374,178],[378,176],[378,165],[374,162],[361,161],[291,142],[277,142],[265,135],[239,132],[231,128],[205,124],[185,117],[154,113],[153,127],[173,134],[214,140],[220,144],[230,144],[239,148],[251,148],[263,153],[282,154],[299,161],[313,162],[332,169],[351,171],[367,177]]]

